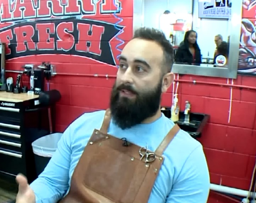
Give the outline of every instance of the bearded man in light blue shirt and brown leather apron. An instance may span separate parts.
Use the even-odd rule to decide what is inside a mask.
[[[119,58],[110,109],[69,125],[31,185],[18,175],[16,203],[206,203],[210,176],[202,145],[161,113],[173,58],[163,32],[135,30]]]

